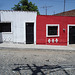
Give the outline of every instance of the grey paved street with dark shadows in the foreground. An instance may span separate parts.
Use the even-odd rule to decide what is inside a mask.
[[[0,75],[75,75],[75,51],[0,49]]]

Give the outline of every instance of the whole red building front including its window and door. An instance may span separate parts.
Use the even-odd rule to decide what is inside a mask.
[[[75,17],[38,15],[36,44],[75,44]]]

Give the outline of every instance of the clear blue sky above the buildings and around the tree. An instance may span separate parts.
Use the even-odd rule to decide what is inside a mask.
[[[17,4],[20,0],[0,0],[0,10],[11,10],[14,4]],[[45,9],[43,6],[52,6],[48,8],[47,14],[52,15],[63,12],[64,0],[28,0],[38,6],[41,15],[45,15]],[[75,0],[65,0],[65,10],[69,11],[75,9]]]

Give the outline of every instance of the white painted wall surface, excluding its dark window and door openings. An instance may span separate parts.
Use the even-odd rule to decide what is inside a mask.
[[[0,11],[1,22],[11,22],[11,32],[3,32],[3,41],[26,43],[26,22],[34,22],[34,43],[36,44],[36,16],[37,12]],[[10,38],[10,40],[8,40]]]

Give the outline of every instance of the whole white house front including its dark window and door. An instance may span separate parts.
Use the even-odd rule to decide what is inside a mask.
[[[0,42],[36,44],[36,16],[37,12],[0,11]]]

